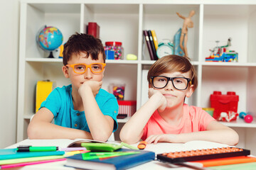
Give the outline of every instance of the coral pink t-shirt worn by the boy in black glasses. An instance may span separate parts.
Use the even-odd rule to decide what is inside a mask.
[[[207,125],[213,120],[215,119],[206,111],[203,111],[202,108],[184,104],[181,123],[178,126],[174,126],[166,123],[156,110],[143,129],[142,140],[146,140],[150,135],[204,131]]]

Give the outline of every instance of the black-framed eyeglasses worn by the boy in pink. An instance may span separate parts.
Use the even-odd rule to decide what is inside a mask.
[[[186,90],[188,88],[188,83],[191,82],[191,79],[188,79],[186,77],[151,77],[151,83],[156,89],[163,89],[167,86],[169,81],[171,81],[175,89]]]

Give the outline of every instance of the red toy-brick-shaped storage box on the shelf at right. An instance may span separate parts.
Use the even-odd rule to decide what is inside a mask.
[[[213,91],[210,95],[210,107],[214,108],[213,118],[218,120],[221,112],[238,112],[239,96],[234,91],[228,91],[227,94],[221,94],[220,91]]]

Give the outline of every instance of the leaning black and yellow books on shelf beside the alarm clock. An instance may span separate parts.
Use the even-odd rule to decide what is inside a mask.
[[[156,50],[158,48],[158,42],[156,38],[155,30],[143,30],[143,35],[146,41],[146,46],[149,50],[149,57],[151,60],[158,60]]]

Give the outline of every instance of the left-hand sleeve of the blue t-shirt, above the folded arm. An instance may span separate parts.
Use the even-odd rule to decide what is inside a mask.
[[[43,101],[41,103],[41,108],[48,108],[51,113],[53,113],[54,117],[57,116],[57,114],[60,112],[61,107],[61,97],[58,89],[54,89],[48,97],[46,98],[46,101]]]

